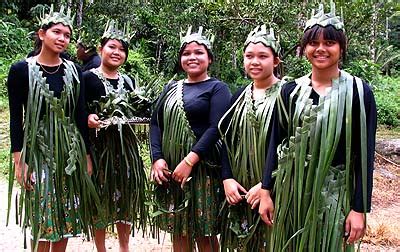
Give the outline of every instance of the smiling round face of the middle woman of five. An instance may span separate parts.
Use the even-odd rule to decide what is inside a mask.
[[[197,82],[208,77],[207,69],[211,64],[211,58],[204,45],[191,42],[183,48],[180,63],[183,71],[187,74],[188,80]]]

